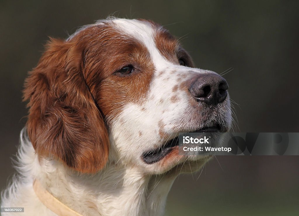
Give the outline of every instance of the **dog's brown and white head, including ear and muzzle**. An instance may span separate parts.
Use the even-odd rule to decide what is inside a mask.
[[[179,132],[230,128],[227,89],[160,25],[101,20],[48,42],[25,82],[27,130],[39,156],[83,173],[108,160],[163,173],[202,158],[179,155]]]

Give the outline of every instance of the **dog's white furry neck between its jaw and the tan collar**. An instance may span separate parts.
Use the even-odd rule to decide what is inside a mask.
[[[82,215],[162,215],[176,170],[146,175],[136,167],[110,163],[82,175],[53,160],[40,161],[39,180],[54,197]]]

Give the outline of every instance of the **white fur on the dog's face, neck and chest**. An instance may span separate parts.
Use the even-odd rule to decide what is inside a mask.
[[[109,160],[106,167],[94,175],[76,173],[55,160],[39,159],[23,129],[16,166],[19,174],[2,193],[1,207],[25,207],[23,215],[55,215],[36,197],[32,188],[36,178],[54,197],[82,215],[161,215],[167,194],[184,162],[196,162],[197,168],[205,163],[205,158],[196,156],[182,157],[165,166],[162,162],[149,165],[143,162],[141,155],[153,148],[162,148],[159,130],[170,139],[177,131],[199,126],[199,122],[192,122],[190,118],[195,111],[190,107],[188,93],[182,90],[173,93],[172,89],[194,73],[210,71],[167,61],[155,47],[154,30],[149,24],[126,19],[105,22],[112,22],[149,50],[155,72],[148,95],[142,105],[127,104],[119,116],[108,117],[111,122]],[[177,102],[171,102],[174,95],[179,98]],[[226,121],[230,124],[229,99],[226,106]]]

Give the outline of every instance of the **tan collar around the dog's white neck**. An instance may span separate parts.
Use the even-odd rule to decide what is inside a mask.
[[[33,190],[39,200],[47,206],[52,212],[56,213],[59,216],[68,216],[68,215],[76,215],[76,216],[83,216],[73,209],[69,208],[57,198],[55,198],[50,192],[48,192],[39,180],[35,179],[33,182]]]

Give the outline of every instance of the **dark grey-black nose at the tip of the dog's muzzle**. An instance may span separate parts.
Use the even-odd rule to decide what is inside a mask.
[[[218,74],[200,74],[190,86],[190,92],[196,100],[208,105],[217,105],[225,100],[228,84]]]

